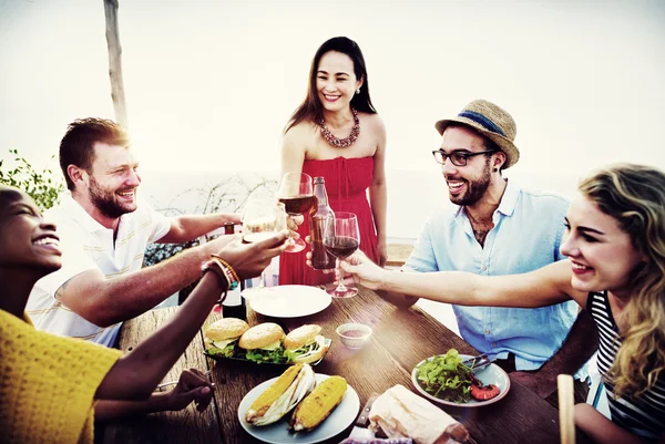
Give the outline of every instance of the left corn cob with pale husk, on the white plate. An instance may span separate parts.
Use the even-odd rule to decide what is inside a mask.
[[[309,364],[289,366],[252,403],[245,421],[253,425],[267,425],[290,412],[316,385]]]

